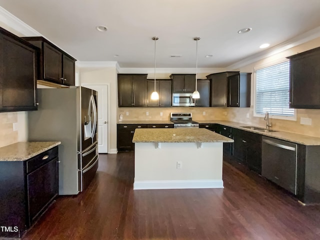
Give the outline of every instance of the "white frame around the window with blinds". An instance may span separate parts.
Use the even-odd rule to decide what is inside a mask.
[[[255,112],[255,104],[256,104],[256,71],[261,69],[261,68],[265,68],[265,67],[273,66],[273,65],[276,65],[276,64],[280,64],[280,63],[285,62],[285,61],[289,61],[289,60],[287,58],[284,58],[284,59],[280,59],[280,60],[277,60],[277,61],[272,61],[272,62],[268,62],[268,63],[265,63],[265,64],[261,64],[261,65],[255,66],[253,68],[253,116],[255,116],[255,117],[264,117],[264,114],[259,114],[259,113]],[[297,118],[296,117],[296,109],[293,108],[293,116],[281,116],[281,115],[273,115],[273,114],[269,113],[269,118],[296,121],[296,118]]]

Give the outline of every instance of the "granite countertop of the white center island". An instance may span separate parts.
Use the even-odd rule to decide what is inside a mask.
[[[233,142],[205,128],[139,128],[132,142]]]

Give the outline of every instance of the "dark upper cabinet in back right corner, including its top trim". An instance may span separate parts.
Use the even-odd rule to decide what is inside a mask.
[[[224,71],[206,76],[211,79],[211,106],[226,106],[227,78],[238,73],[238,71]]]

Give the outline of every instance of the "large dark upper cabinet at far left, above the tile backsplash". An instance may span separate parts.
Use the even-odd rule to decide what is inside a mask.
[[[0,111],[37,109],[37,50],[0,27]]]

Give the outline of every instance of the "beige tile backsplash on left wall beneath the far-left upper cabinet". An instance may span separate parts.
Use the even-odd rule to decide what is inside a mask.
[[[17,122],[17,112],[0,112],[0,147],[18,141],[18,131],[13,131]]]

